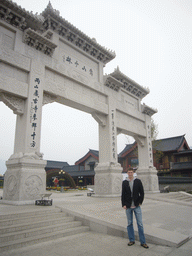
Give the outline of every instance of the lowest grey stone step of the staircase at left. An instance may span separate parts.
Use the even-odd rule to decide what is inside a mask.
[[[26,247],[29,245],[34,245],[37,243],[42,243],[42,242],[50,241],[53,239],[58,239],[61,237],[72,236],[72,235],[87,232],[87,231],[89,231],[89,227],[80,226],[80,227],[75,227],[75,228],[69,228],[66,230],[60,230],[60,231],[53,232],[53,233],[42,234],[42,235],[37,235],[37,236],[33,236],[33,237],[27,237],[27,238],[19,239],[16,241],[9,241],[6,243],[2,243],[0,245],[0,251],[3,252],[3,251],[16,249],[16,248]]]

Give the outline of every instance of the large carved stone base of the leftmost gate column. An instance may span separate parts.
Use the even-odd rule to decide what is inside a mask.
[[[22,154],[22,153],[21,153]],[[23,205],[35,204],[46,191],[45,160],[33,156],[10,158],[4,177],[1,203]]]

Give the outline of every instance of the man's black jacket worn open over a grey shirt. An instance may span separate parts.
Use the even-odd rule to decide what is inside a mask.
[[[136,207],[139,206],[139,204],[142,204],[144,199],[144,189],[143,189],[142,182],[137,178],[134,179],[132,196],[133,196],[134,205]],[[125,205],[127,208],[131,207],[132,196],[131,196],[131,188],[129,186],[129,181],[124,180],[122,183],[122,194],[121,194],[122,207]]]

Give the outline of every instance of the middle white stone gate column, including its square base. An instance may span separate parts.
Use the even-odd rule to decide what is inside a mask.
[[[121,172],[122,167],[117,156],[116,109],[109,106],[108,116],[103,116],[102,122],[99,122],[99,164],[95,168],[96,196],[120,196]]]

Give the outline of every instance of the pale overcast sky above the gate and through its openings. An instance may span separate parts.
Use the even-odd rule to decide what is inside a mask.
[[[48,0],[15,1],[40,14]],[[158,110],[158,139],[180,136],[192,146],[192,0],[52,0],[54,9],[90,38],[116,52],[104,73],[120,71],[150,89],[142,103]],[[0,173],[13,154],[16,116],[0,102]],[[118,136],[118,152],[132,142]],[[56,103],[43,107],[44,159],[74,164],[98,150],[98,125],[89,115]]]

